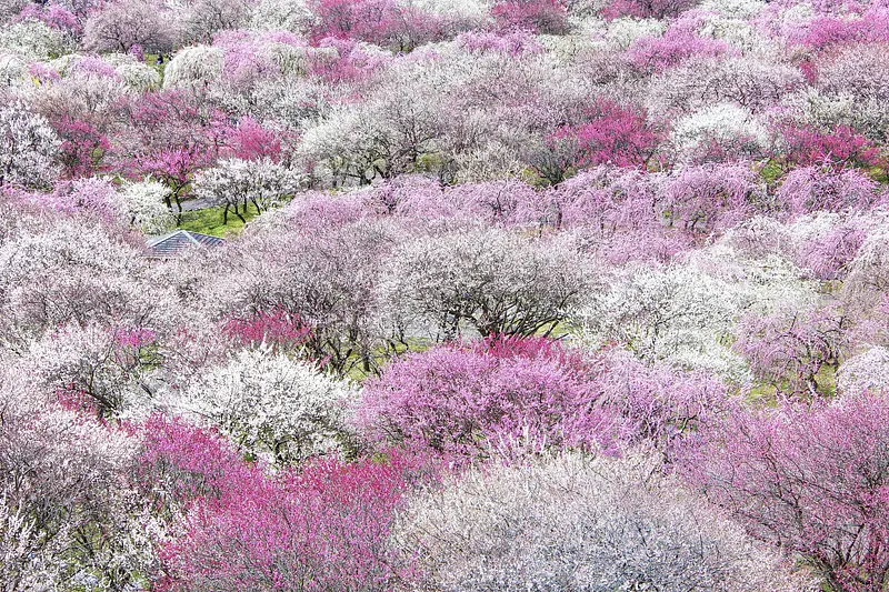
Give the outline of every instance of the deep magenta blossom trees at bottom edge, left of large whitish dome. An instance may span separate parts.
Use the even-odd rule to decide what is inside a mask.
[[[181,511],[160,549],[160,591],[388,591],[393,512],[429,475],[416,456],[310,462],[277,475],[181,421],[146,425],[142,479]]]

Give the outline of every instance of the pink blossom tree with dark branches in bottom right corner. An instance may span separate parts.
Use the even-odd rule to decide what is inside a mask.
[[[702,427],[682,472],[838,592],[889,583],[889,400],[737,408]]]

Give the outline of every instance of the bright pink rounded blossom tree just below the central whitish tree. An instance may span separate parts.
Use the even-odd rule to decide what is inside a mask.
[[[545,339],[492,338],[410,354],[366,383],[359,422],[378,441],[458,462],[523,446],[615,449],[593,365]]]

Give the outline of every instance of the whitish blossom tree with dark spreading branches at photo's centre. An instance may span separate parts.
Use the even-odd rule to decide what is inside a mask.
[[[530,240],[500,230],[420,237],[383,271],[391,313],[438,339],[551,332],[592,285],[570,241]]]

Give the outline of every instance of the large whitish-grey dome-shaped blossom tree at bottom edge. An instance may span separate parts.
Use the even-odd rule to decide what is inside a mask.
[[[565,455],[470,471],[416,499],[394,539],[428,591],[816,590],[653,469]]]

